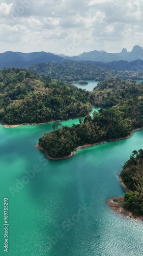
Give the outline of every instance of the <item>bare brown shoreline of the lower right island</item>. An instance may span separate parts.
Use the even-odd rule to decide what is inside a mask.
[[[124,184],[124,182],[121,178],[121,175],[119,175],[119,179],[120,179],[120,182],[121,182],[125,192],[128,193],[130,191],[130,189]],[[137,220],[137,221],[143,221],[143,216],[134,217],[130,210],[127,210],[127,209],[124,208],[124,197],[110,198],[108,200],[108,206],[113,211],[116,211],[119,214],[130,217],[131,219],[134,219],[134,220]]]

